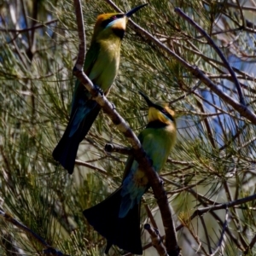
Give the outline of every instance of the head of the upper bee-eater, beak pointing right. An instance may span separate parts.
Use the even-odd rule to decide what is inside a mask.
[[[139,9],[142,9],[148,3],[144,3],[140,6],[131,9],[126,14],[112,13],[99,15],[94,27],[93,40],[97,38],[108,38],[109,36],[116,36],[120,39],[125,36],[126,23]]]

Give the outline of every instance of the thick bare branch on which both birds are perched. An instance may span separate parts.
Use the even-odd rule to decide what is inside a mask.
[[[76,11],[78,29],[79,29],[79,55],[75,67],[73,67],[73,74],[79,81],[84,84],[85,88],[89,90],[93,99],[102,107],[104,113],[107,113],[109,118],[112,119],[113,124],[117,126],[117,129],[121,131],[129,143],[131,143],[134,149],[135,160],[139,166],[143,166],[143,170],[147,173],[148,181],[154,191],[154,196],[160,207],[160,213],[163,220],[163,224],[166,230],[166,250],[170,256],[177,256],[180,253],[180,248],[177,246],[177,236],[175,227],[172,220],[171,207],[166,195],[166,191],[163,188],[163,183],[160,181],[160,177],[154,168],[151,166],[148,156],[142,148],[141,143],[136,137],[135,133],[131,130],[130,126],[125,122],[119,113],[113,109],[113,105],[108,102],[106,96],[96,90],[94,84],[83,72],[83,64],[85,57],[85,35],[84,35],[84,20],[82,15],[82,7],[80,0],[74,0],[74,6]]]

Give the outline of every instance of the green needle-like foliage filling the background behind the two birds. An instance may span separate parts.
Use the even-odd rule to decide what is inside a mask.
[[[109,2],[82,1],[87,47],[96,15],[113,12]],[[141,2],[115,3],[127,10]],[[236,4],[151,1],[133,20],[239,101],[230,73],[212,46],[174,12],[175,7],[183,9],[221,47],[236,71],[247,107],[253,111],[255,36],[249,21],[254,9],[234,8]],[[105,144],[130,145],[101,112],[78,153],[79,160],[95,167],[77,164],[69,176],[51,157],[67,125],[73,96],[72,70],[79,47],[73,1],[6,0],[0,3],[0,14],[0,209],[62,253],[102,255],[106,242],[82,211],[105,199],[121,183],[126,156],[106,154]],[[224,229],[225,211],[203,215],[207,235],[201,218],[189,220],[189,216],[197,208],[255,194],[255,125],[172,55],[128,27],[119,75],[108,99],[138,134],[147,123],[147,113],[137,90],[170,102],[177,113],[177,146],[161,175],[179,216],[176,225],[185,225],[177,233],[183,255],[197,251],[209,255],[207,236],[213,252]],[[152,191],[144,197],[155,210]],[[147,218],[142,211],[143,224]],[[222,255],[255,254],[254,218],[255,201],[230,208]],[[1,255],[43,255],[42,244],[24,230],[4,218],[0,218],[0,227]],[[148,236],[142,233],[146,245]],[[154,249],[151,252],[155,255]],[[120,254],[118,248],[110,253]],[[149,254],[150,249],[145,251]]]

